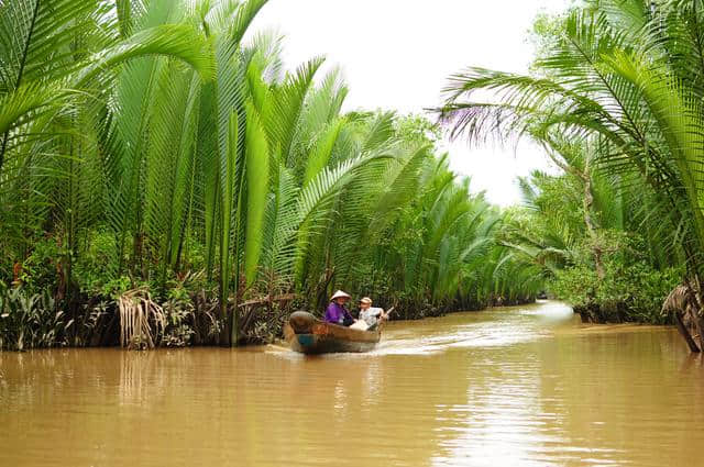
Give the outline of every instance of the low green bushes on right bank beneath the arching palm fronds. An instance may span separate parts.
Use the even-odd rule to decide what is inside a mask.
[[[591,213],[598,227],[591,235],[578,179],[536,173],[521,185],[525,208],[512,212],[504,243],[544,268],[553,296],[575,304],[593,322],[669,321],[661,313],[662,302],[682,280],[684,266],[669,256],[661,236],[667,225],[652,225],[640,208],[627,209],[641,199],[626,191],[615,194],[609,184],[595,182]]]

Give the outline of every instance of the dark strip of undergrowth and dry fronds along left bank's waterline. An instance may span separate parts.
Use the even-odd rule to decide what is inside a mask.
[[[394,305],[393,320],[413,321],[532,301],[501,298],[485,303],[432,303],[377,298],[376,303],[387,309]],[[238,345],[261,345],[282,337],[285,320],[296,310],[322,310],[322,305],[310,305],[294,294],[238,305],[231,300],[223,316],[217,297],[205,290],[170,289],[152,296],[139,289],[117,298],[62,300],[48,291],[31,294],[14,288],[0,294],[0,349],[229,346],[235,312]]]

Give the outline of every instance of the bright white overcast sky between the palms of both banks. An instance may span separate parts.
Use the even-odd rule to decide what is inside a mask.
[[[565,0],[271,0],[254,30],[285,35],[284,59],[295,68],[316,55],[339,66],[350,86],[344,110],[424,113],[441,103],[448,76],[468,66],[525,73],[532,57],[527,32],[540,11]],[[535,145],[468,147],[446,143],[451,166],[472,177],[490,201],[520,201],[516,176],[551,168]]]

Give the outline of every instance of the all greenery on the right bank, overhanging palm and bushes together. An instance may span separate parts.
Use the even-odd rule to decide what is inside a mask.
[[[590,321],[661,322],[684,283],[704,347],[704,4],[584,1],[535,35],[531,75],[472,68],[442,111],[455,135],[527,136],[562,168],[522,180],[506,243]]]

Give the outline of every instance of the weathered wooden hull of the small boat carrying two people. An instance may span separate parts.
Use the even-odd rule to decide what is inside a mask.
[[[290,348],[302,354],[330,354],[342,352],[369,352],[382,338],[377,326],[374,331],[352,330],[326,323],[310,313],[297,311],[284,325],[284,337]]]

